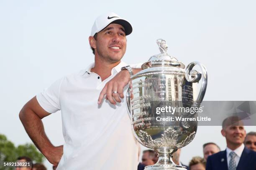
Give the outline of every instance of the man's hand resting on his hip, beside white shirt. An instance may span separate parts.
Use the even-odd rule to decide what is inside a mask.
[[[51,164],[57,166],[63,155],[63,145],[49,148],[49,150],[44,155]]]

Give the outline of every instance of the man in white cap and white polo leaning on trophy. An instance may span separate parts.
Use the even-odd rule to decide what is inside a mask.
[[[121,61],[131,32],[131,24],[115,13],[98,17],[89,37],[95,62],[57,80],[20,111],[29,137],[57,170],[137,168],[138,147],[122,99],[130,76],[141,70]],[[102,100],[105,94],[108,100]],[[56,147],[41,119],[58,110],[65,143]]]

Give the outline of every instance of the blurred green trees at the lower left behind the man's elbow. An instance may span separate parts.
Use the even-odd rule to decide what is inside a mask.
[[[5,135],[0,134],[0,161],[15,162],[18,157],[27,156],[33,160],[33,163],[42,163],[44,155],[41,154],[35,145],[26,143],[25,145],[15,145],[6,138]],[[13,168],[3,168],[3,162],[0,165],[0,170],[13,170]]]

